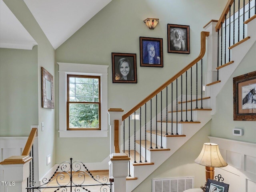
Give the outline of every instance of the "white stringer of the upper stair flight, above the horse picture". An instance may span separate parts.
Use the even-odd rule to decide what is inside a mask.
[[[211,107],[212,107],[212,115],[216,112],[216,96],[226,84],[230,76],[233,74],[234,70],[238,67],[246,53],[250,50],[254,42],[256,41],[256,19],[250,21],[247,24],[247,36],[250,36],[250,39],[246,40],[242,44],[232,48],[231,60],[234,61],[233,64],[225,66],[219,70],[219,80],[220,83],[211,85],[207,87],[207,96],[211,97]]]

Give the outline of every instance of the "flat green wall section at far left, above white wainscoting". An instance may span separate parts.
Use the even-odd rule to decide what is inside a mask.
[[[37,46],[0,49],[0,136],[28,136],[38,124]]]

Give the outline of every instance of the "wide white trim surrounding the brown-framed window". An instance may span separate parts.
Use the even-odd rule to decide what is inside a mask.
[[[60,137],[107,137],[108,136],[108,66],[76,63],[59,65],[59,136]],[[100,76],[101,130],[67,130],[67,75]]]

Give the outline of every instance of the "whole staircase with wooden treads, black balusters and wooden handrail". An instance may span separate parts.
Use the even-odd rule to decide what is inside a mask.
[[[220,20],[222,19],[220,18]],[[222,21],[221,25],[224,25],[224,22],[226,21]],[[229,50],[232,50],[232,56],[228,62],[220,64],[220,66],[214,65],[216,65],[216,60],[222,60],[222,58],[219,54],[216,58],[217,53],[209,47],[213,47],[211,43],[218,36],[223,39],[223,33],[221,35],[216,32],[217,21],[209,23],[209,26],[205,27],[208,32],[201,34],[201,52],[198,58],[122,116],[120,152],[124,152],[130,157],[126,192],[134,190],[211,120],[212,114],[216,112],[216,96],[256,42],[255,13],[245,23],[248,27],[248,37],[228,46]],[[205,39],[208,40],[208,55],[207,64],[203,65]],[[216,50],[218,49],[216,48]],[[211,58],[209,59],[209,57]],[[200,62],[201,69],[199,69]],[[206,75],[210,75],[205,78],[206,90],[203,91],[202,67],[206,65],[208,66]],[[196,69],[192,69],[194,66]],[[194,74],[200,73],[201,76],[194,76]],[[188,82],[188,78],[191,78],[191,82]],[[180,88],[180,84],[185,85]],[[138,120],[133,119],[136,115],[139,116]]]

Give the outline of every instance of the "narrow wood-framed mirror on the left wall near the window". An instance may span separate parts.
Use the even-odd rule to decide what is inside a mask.
[[[42,107],[54,109],[53,76],[43,67],[41,67],[41,94]]]

